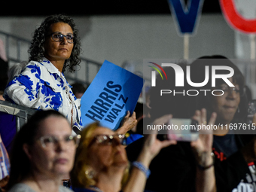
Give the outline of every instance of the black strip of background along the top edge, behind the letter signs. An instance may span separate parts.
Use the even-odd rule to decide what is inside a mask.
[[[177,0],[178,1],[178,0]],[[184,1],[185,3],[187,0]],[[36,17],[50,14],[69,16],[120,15],[120,14],[171,14],[167,0],[24,0],[1,1],[0,16]],[[218,0],[205,0],[203,14],[219,14]]]

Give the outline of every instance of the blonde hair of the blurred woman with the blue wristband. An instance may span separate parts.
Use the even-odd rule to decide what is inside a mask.
[[[88,169],[90,169],[88,157],[92,154],[89,154],[88,147],[90,142],[93,140],[93,132],[97,127],[99,127],[98,122],[91,123],[81,131],[80,143],[75,154],[75,165],[71,172],[71,182],[73,188],[84,188],[96,184],[93,177],[88,176],[85,172],[88,172]],[[123,173],[122,185],[126,183],[129,177],[129,168],[130,166],[128,166]]]

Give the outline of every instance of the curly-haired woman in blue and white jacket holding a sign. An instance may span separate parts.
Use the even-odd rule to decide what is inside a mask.
[[[9,82],[5,99],[29,108],[59,111],[80,130],[80,99],[72,93],[63,75],[66,69],[75,71],[81,62],[80,51],[81,41],[74,20],[63,15],[47,17],[34,32],[29,63]],[[126,123],[120,130],[123,133],[136,123],[135,114],[129,117],[127,113]]]

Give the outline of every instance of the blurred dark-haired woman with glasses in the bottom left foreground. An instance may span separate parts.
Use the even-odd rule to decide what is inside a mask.
[[[62,179],[73,167],[78,139],[58,111],[36,111],[14,139],[9,191],[71,191]]]

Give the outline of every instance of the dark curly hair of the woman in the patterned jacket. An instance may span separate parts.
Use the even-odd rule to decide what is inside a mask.
[[[29,61],[41,61],[44,57],[44,42],[47,38],[47,35],[49,35],[50,26],[53,23],[67,23],[69,26],[71,26],[75,41],[74,41],[74,47],[71,53],[71,56],[69,59],[66,59],[62,72],[66,71],[66,68],[68,68],[69,72],[75,72],[75,66],[78,66],[81,62],[80,59],[80,51],[81,51],[81,41],[78,37],[78,29],[76,29],[75,22],[71,17],[65,16],[65,15],[52,15],[47,17],[42,23],[41,26],[38,27],[38,29],[35,29],[34,36],[31,41],[31,45],[29,47]]]

